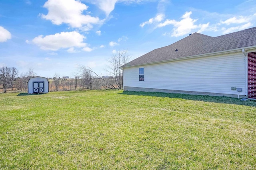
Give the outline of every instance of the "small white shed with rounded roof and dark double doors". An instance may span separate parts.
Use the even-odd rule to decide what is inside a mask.
[[[28,94],[48,93],[49,82],[45,77],[31,77],[28,80]]]

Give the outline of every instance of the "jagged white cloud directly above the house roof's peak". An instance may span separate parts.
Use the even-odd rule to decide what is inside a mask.
[[[194,23],[197,20],[193,20],[192,18],[190,18],[191,14],[192,14],[192,12],[186,12],[182,16],[182,20],[180,20],[180,21],[167,19],[163,23],[159,23],[158,27],[164,27],[166,25],[173,25],[174,28],[172,30],[172,37],[179,37],[179,36],[185,35],[187,33],[191,33],[192,29],[199,28],[199,31],[201,31],[201,32],[204,31],[208,27],[209,23],[195,25]]]

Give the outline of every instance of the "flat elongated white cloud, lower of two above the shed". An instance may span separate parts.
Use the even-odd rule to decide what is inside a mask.
[[[57,51],[60,48],[71,48],[71,47],[86,47],[84,43],[84,35],[76,31],[72,32],[61,32],[54,35],[39,35],[35,37],[32,42],[43,50]]]

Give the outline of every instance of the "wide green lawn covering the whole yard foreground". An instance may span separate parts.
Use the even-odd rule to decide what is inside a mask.
[[[256,102],[103,90],[0,94],[0,169],[256,169]]]

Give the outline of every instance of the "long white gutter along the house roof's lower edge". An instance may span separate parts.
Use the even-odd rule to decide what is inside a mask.
[[[256,45],[254,46],[250,46],[250,47],[243,47],[243,48],[237,48],[237,49],[230,49],[230,50],[225,50],[225,51],[217,51],[217,52],[212,52],[212,53],[205,53],[205,54],[199,54],[199,55],[191,55],[191,56],[187,56],[187,57],[180,57],[180,58],[175,58],[175,59],[168,59],[168,60],[162,60],[162,61],[154,61],[154,62],[150,62],[150,63],[143,63],[143,64],[136,64],[136,65],[132,65],[132,66],[124,66],[124,67],[120,67],[120,68],[129,68],[129,67],[136,67],[136,66],[142,66],[142,65],[151,65],[151,64],[160,64],[160,63],[166,63],[169,61],[179,61],[179,60],[185,60],[185,59],[195,59],[195,58],[200,58],[200,57],[210,57],[210,56],[214,56],[214,55],[224,55],[224,54],[230,54],[230,53],[239,53],[243,50],[248,51],[248,50],[252,50],[252,49],[256,49]]]

